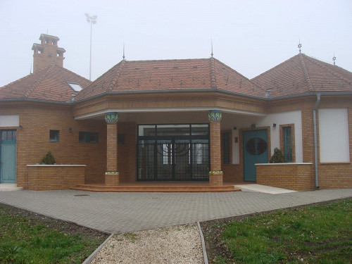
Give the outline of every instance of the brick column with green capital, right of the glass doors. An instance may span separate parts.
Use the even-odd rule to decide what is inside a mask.
[[[222,185],[220,121],[221,112],[211,110],[208,113],[210,121],[210,172],[209,184]]]

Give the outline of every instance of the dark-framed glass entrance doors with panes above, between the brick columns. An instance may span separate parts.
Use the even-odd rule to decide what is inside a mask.
[[[137,180],[208,180],[208,125],[139,125]]]

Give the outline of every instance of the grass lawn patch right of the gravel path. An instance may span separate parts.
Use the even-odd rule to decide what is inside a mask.
[[[210,262],[351,263],[352,199],[202,223]]]

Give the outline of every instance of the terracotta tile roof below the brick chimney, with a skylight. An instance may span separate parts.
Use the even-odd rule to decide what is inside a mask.
[[[91,81],[70,70],[52,64],[27,75],[20,80],[0,87],[0,99],[41,99],[48,101],[69,101],[77,94],[67,82],[78,83],[82,88]]]

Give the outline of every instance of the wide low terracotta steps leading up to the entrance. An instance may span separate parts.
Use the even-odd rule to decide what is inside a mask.
[[[197,182],[196,182],[197,183]],[[194,182],[146,182],[106,186],[105,184],[82,184],[70,189],[80,191],[106,192],[225,192],[241,191],[234,185],[212,186],[208,182],[195,184]]]

